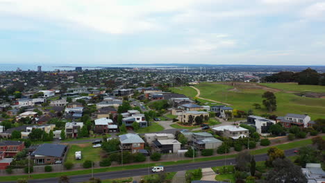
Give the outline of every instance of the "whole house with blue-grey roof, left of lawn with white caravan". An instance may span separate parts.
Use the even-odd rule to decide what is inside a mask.
[[[43,143],[31,153],[31,159],[35,164],[54,164],[63,161],[67,146],[62,144]]]

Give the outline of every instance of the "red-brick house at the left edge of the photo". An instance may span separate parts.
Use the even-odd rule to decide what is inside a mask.
[[[24,141],[0,141],[0,152],[4,157],[14,157],[25,148]]]

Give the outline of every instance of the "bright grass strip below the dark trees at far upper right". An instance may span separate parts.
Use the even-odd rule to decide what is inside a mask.
[[[260,85],[288,92],[325,92],[325,86],[298,85],[298,83],[295,82],[260,83]]]

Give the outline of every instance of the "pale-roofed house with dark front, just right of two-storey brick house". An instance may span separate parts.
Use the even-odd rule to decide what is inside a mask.
[[[177,153],[181,150],[181,143],[176,139],[158,139],[153,141],[151,147],[158,153]]]

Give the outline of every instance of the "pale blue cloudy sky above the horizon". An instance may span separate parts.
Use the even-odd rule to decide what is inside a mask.
[[[325,65],[325,0],[0,0],[0,63]]]

